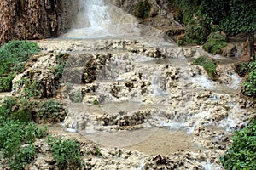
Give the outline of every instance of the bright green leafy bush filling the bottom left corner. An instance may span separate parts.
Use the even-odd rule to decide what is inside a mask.
[[[0,150],[3,150],[3,158],[8,158],[12,169],[24,169],[38,152],[32,142],[46,136],[48,128],[38,128],[32,122],[26,125],[19,121],[3,121],[3,116],[0,116],[0,120]],[[28,145],[21,148],[22,144]]]

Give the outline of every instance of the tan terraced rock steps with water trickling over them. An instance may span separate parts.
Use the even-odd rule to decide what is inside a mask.
[[[99,41],[38,42],[44,54],[15,77],[16,81],[31,77],[43,84],[49,82],[49,96],[61,91],[68,113],[64,127],[51,127],[51,131],[79,139],[85,167],[221,169],[219,157],[230,145],[230,133],[253,116],[253,111],[244,109],[252,102],[238,95],[235,85],[240,79],[231,63],[218,65],[221,79],[213,82],[200,66],[189,61],[201,53],[198,48],[177,48],[166,42],[166,46],[154,50],[154,43],[143,40],[101,40],[98,46],[96,42]],[[68,53],[61,90],[51,83],[56,79],[52,70],[58,63],[56,52]],[[180,140],[177,144],[186,147],[174,144],[172,150],[160,151],[168,150],[176,141],[165,143],[168,138],[162,128]],[[189,137],[180,134],[181,130]],[[150,136],[153,139],[149,140]],[[182,143],[183,138],[191,143]],[[44,141],[41,143],[39,147],[44,151],[29,167],[55,168],[47,146]],[[93,155],[96,148],[102,150],[102,156]]]

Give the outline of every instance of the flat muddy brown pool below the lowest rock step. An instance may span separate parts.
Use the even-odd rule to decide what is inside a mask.
[[[50,127],[50,133],[78,139],[79,142],[92,142],[102,147],[137,150],[146,155],[170,155],[178,150],[198,152],[201,147],[193,142],[192,135],[184,129],[143,128],[131,131],[102,133],[70,133],[61,124]]]

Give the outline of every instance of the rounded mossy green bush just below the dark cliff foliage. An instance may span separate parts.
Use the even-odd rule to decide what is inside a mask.
[[[207,37],[207,43],[203,45],[203,48],[211,54],[221,54],[222,48],[227,45],[226,37],[221,34],[220,31],[212,32]]]

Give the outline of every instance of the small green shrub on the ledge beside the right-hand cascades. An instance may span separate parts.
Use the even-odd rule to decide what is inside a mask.
[[[212,59],[201,56],[193,61],[194,65],[201,65],[207,71],[207,75],[212,79],[217,79],[216,63]]]

